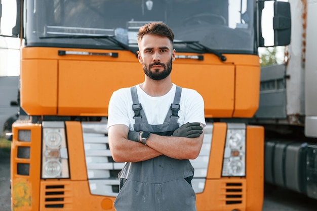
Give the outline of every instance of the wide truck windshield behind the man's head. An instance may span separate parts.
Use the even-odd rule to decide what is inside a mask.
[[[140,26],[162,21],[178,52],[186,41],[221,53],[255,49],[254,0],[27,0],[24,11],[26,46],[123,49],[109,36],[137,48]]]

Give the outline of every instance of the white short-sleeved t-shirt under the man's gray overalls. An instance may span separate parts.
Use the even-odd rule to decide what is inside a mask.
[[[171,103],[174,101],[176,85],[165,95],[160,97],[151,97],[147,95],[140,86],[137,87],[139,103],[145,112],[149,124],[163,124]],[[108,108],[108,125],[109,128],[115,124],[125,124],[131,131],[134,131],[132,110],[132,96],[130,88],[123,88],[113,92]],[[200,122],[206,125],[204,113],[203,97],[195,90],[182,88],[180,98],[180,110],[178,111],[178,123],[183,125],[187,122]]]

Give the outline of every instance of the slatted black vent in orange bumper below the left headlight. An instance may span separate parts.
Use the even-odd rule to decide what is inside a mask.
[[[64,208],[64,185],[47,185],[45,189],[46,208]]]

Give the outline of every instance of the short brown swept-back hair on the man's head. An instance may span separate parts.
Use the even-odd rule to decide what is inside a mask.
[[[168,27],[165,23],[162,22],[151,22],[147,23],[139,29],[138,32],[138,41],[141,41],[145,34],[158,35],[162,37],[167,37],[171,40],[173,45],[174,41],[174,33],[170,27]]]

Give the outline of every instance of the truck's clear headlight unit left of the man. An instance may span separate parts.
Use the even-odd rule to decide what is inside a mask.
[[[69,178],[64,122],[43,122],[42,178]]]

